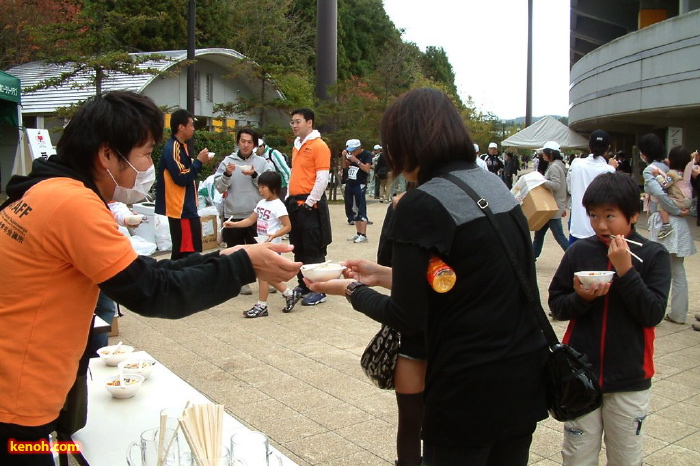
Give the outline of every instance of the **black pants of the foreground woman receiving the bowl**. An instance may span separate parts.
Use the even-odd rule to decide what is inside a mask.
[[[479,447],[445,447],[423,442],[426,466],[527,466],[537,424]]]

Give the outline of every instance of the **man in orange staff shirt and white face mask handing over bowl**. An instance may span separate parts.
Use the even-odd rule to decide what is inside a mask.
[[[133,92],[84,104],[56,155],[13,176],[0,205],[0,464],[53,465],[51,453],[16,454],[9,439],[47,446],[76,381],[97,295],[131,311],[179,318],[236,296],[256,276],[287,281],[301,264],[256,244],[183,259],[139,256],[107,207],[137,202],[155,180],[151,152],[163,112]],[[203,292],[206,291],[206,292]]]

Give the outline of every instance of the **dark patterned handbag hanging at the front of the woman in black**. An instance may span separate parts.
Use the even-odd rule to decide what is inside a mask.
[[[399,356],[400,342],[401,334],[398,331],[382,325],[362,353],[362,370],[374,385],[381,389],[394,389],[394,369],[396,358]]]

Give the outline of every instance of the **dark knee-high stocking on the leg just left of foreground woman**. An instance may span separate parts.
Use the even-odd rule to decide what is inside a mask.
[[[396,453],[400,466],[421,463],[420,430],[423,423],[423,392],[396,394],[399,407],[399,428],[396,432]]]

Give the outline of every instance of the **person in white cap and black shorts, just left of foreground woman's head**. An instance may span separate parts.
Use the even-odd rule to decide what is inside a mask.
[[[372,168],[372,153],[362,148],[359,139],[349,139],[343,151],[343,167],[348,169],[348,181],[345,183],[345,215],[348,224],[355,224],[357,234],[348,238],[355,243],[367,242],[367,174]],[[357,207],[357,214],[353,211]]]

